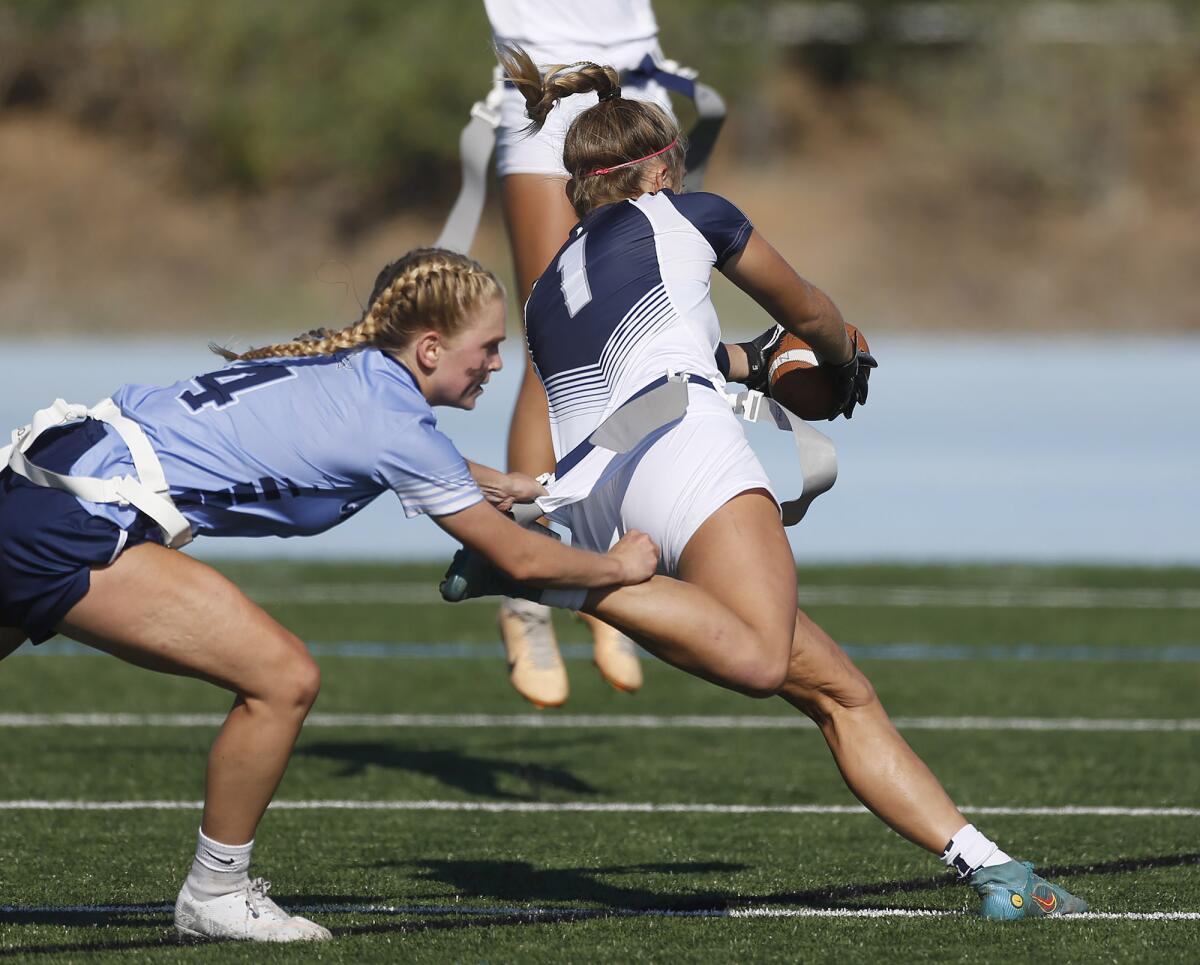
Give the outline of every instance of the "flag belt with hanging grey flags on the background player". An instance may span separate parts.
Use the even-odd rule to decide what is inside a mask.
[[[470,120],[458,136],[458,155],[462,158],[462,187],[450,215],[434,242],[439,248],[467,254],[487,199],[487,163],[496,148],[496,131],[500,126],[500,100],[506,86],[497,67],[492,74],[492,89],[482,101],[470,108]],[[688,155],[684,158],[683,186],[686,191],[700,191],[704,180],[704,168],[716,144],[716,136],[725,122],[725,101],[715,90],[696,79],[691,67],[673,60],[658,60],[647,54],[642,62],[622,73],[622,83],[631,88],[644,86],[652,80],[667,90],[688,97],[696,106],[696,124],[688,134]]]

